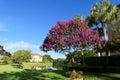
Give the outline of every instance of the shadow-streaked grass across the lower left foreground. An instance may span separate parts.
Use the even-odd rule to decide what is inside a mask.
[[[0,80],[67,80],[59,71],[24,70],[21,72],[0,73]]]

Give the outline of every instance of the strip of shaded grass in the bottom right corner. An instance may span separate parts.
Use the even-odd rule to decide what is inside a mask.
[[[98,78],[100,80],[120,80],[120,73],[84,73],[87,78]]]

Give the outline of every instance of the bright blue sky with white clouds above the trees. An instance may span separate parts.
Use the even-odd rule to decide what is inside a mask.
[[[30,49],[40,53],[49,29],[59,20],[89,14],[93,3],[101,0],[0,0],[0,44],[10,52]],[[120,0],[110,0],[114,4]],[[53,51],[53,58],[65,57]]]

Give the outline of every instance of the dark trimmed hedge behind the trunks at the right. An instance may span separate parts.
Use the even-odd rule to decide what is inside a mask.
[[[86,57],[85,64],[87,66],[104,66],[106,64],[106,56],[103,57]],[[120,66],[120,55],[109,56],[108,66]]]

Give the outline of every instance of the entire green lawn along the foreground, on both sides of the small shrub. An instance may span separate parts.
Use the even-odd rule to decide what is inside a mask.
[[[30,63],[24,65],[27,66]],[[63,70],[37,71],[21,68],[19,65],[0,65],[0,80],[69,80],[65,73]],[[84,72],[83,75],[85,80],[120,80],[120,73]]]

